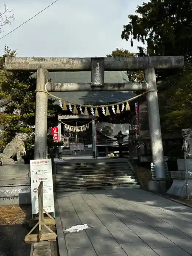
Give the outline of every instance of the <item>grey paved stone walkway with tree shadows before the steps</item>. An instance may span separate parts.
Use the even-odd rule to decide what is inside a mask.
[[[69,256],[192,255],[192,208],[141,189],[57,195],[64,227],[94,228],[67,234]]]

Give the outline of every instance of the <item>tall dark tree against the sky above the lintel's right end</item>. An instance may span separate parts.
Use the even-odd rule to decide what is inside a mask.
[[[147,44],[151,56],[192,57],[192,0],[151,0],[123,26],[122,39]]]

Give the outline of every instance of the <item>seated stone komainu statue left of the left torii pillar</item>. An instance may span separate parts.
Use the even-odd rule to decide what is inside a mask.
[[[26,155],[24,143],[26,139],[27,133],[16,133],[15,138],[7,144],[3,150],[3,153],[0,154],[1,165],[24,164],[22,156]],[[17,158],[17,161],[14,161],[14,157]]]

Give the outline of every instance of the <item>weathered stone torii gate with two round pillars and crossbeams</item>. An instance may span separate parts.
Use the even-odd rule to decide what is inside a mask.
[[[106,58],[5,58],[8,71],[37,72],[35,112],[35,159],[46,158],[47,91],[136,91],[147,92],[148,121],[155,178],[166,177],[159,118],[155,69],[174,69],[184,66],[183,56],[168,57],[106,57]],[[144,83],[104,83],[104,71],[144,70]],[[48,72],[91,71],[91,83],[47,83]],[[45,88],[46,84],[46,88]],[[39,91],[40,90],[40,91]]]

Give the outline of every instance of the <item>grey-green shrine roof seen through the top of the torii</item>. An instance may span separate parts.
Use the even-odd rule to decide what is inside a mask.
[[[52,83],[91,83],[91,72],[50,72]],[[128,83],[126,71],[105,71],[105,83]],[[78,105],[102,105],[131,99],[132,91],[91,91],[91,92],[53,92],[53,95]],[[58,101],[56,102],[58,104]]]

